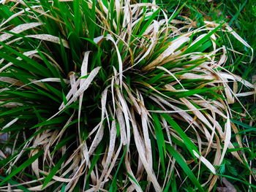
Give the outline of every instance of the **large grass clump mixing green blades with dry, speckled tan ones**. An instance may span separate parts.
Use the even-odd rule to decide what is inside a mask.
[[[0,190],[211,191],[230,158],[252,177],[230,104],[254,86],[224,37],[252,47],[227,23],[130,1],[0,8]]]

